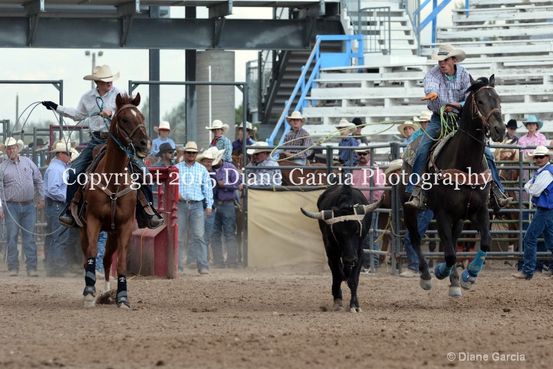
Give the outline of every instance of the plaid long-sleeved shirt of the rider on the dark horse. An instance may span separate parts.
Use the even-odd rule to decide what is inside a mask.
[[[466,92],[471,87],[470,75],[465,68],[456,64],[455,78],[449,80],[442,72],[440,66],[435,66],[424,76],[424,94],[438,93],[434,101],[427,100],[427,107],[435,114],[440,114],[440,108],[451,102],[465,103],[469,94]]]

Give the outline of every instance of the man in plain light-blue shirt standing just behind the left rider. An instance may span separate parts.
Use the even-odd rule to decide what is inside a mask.
[[[44,172],[44,199],[46,200],[46,234],[50,235],[49,242],[44,242],[44,259],[46,260],[47,277],[74,277],[70,273],[66,249],[69,233],[57,222],[59,213],[65,207],[67,184],[64,181],[65,170],[71,162],[71,145],[57,141],[54,149],[55,157]]]

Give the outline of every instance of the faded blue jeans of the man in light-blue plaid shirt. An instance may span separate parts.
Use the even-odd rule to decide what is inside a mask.
[[[188,248],[191,249],[191,255],[194,255],[198,271],[209,269],[207,264],[207,246],[205,245],[204,233],[204,214],[202,201],[194,204],[178,203],[176,211],[178,224],[178,269],[185,268],[183,256],[185,253],[185,239],[187,226],[189,226]]]

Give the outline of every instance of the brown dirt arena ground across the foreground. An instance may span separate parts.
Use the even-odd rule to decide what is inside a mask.
[[[361,276],[352,314],[328,311],[321,267],[137,277],[122,311],[84,309],[82,277],[10,278],[3,266],[0,368],[547,368],[553,280],[512,270],[487,264],[454,299],[447,280],[423,291],[381,268]]]

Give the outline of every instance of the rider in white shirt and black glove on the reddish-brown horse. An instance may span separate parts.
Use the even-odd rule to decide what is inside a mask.
[[[71,215],[71,201],[79,188],[79,183],[77,177],[79,174],[84,173],[88,165],[91,163],[93,157],[92,152],[94,147],[97,145],[102,145],[107,142],[109,136],[109,122],[108,118],[113,117],[115,114],[115,98],[118,94],[122,96],[126,93],[113,86],[113,81],[119,79],[119,72],[113,74],[109,65],[95,66],[93,74],[85,75],[83,80],[92,80],[95,82],[96,86],[90,91],[84,93],[79,100],[77,109],[62,107],[62,105],[57,105],[52,101],[43,101],[42,105],[46,109],[55,110],[62,116],[66,116],[75,121],[84,120],[84,118],[90,117],[88,120],[88,129],[92,132],[91,141],[88,142],[88,145],[84,150],[82,150],[79,157],[71,165],[71,170],[69,173],[68,183],[72,183],[67,186],[66,194],[66,215],[59,217],[59,222],[64,226],[71,228],[76,226],[75,219]],[[148,168],[144,165],[142,160],[131,159],[131,162],[136,167],[145,168],[144,170],[148,172]],[[142,179],[140,180],[142,182]],[[153,194],[151,186],[140,186],[140,190],[146,197],[149,206],[153,209]],[[163,224],[163,219],[153,219],[151,215],[148,215],[142,208],[142,204],[137,199],[137,212],[136,220],[138,222],[139,228],[158,228]],[[155,209],[153,209],[155,210]],[[155,212],[154,212],[155,213]]]

